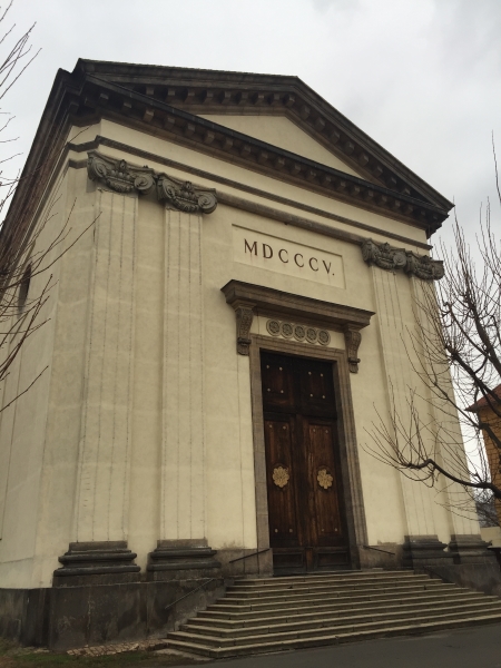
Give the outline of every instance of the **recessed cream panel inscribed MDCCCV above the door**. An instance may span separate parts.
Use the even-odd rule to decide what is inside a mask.
[[[335,253],[233,226],[234,259],[306,281],[345,287],[343,258]]]

